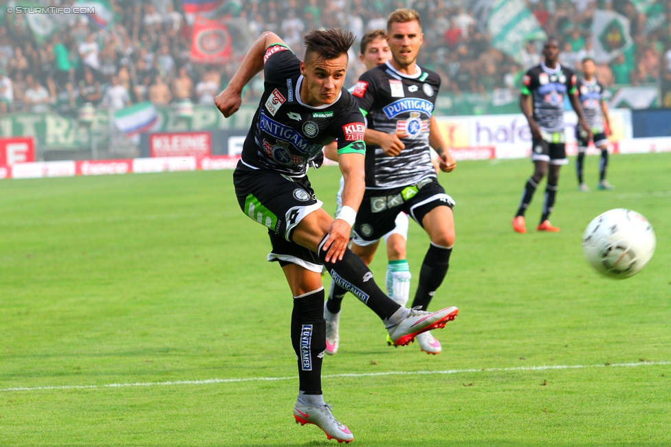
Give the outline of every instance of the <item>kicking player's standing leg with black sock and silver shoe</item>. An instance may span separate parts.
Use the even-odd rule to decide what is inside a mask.
[[[329,439],[350,442],[354,439],[351,431],[333,417],[331,407],[322,396],[322,359],[326,347],[322,277],[319,272],[298,264],[283,264],[282,270],[294,296],[291,331],[299,382],[294,418],[302,425],[315,424]]]

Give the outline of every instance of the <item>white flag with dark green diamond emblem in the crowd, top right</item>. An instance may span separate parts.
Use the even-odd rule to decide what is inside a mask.
[[[596,10],[592,21],[592,42],[595,62],[607,64],[631,46],[629,20],[617,12]]]

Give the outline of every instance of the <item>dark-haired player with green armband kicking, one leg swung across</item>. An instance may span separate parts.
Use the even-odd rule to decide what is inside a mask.
[[[402,308],[382,293],[371,271],[347,248],[364,193],[366,152],[363,116],[349,92],[341,91],[353,41],[353,34],[342,30],[309,32],[301,62],[276,34],[265,32],[228,87],[214,99],[219,111],[230,117],[240,107],[243,87],[264,71],[265,91],[233,174],[235,194],[243,212],[267,227],[272,242],[268,260],[280,263],[294,296],[296,422],[316,424],[338,442],[351,442],[354,437],[333,417],[322,397],[326,344],[322,264],[333,281],[382,319],[398,345],[444,327],[459,312],[454,307],[438,312]],[[334,139],[344,176],[343,207],[335,220],[322,209],[306,175],[308,165]]]

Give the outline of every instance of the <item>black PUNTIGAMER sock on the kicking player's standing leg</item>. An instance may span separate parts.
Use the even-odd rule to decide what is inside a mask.
[[[294,297],[292,345],[298,358],[298,389],[305,394],[321,394],[326,349],[323,287]]]

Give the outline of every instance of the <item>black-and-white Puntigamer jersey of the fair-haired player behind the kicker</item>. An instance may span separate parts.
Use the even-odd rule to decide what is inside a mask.
[[[406,75],[389,62],[362,74],[352,94],[368,120],[368,128],[384,133],[404,132],[406,148],[396,157],[379,146],[366,151],[366,189],[387,189],[418,183],[436,176],[429,150],[430,118],[441,80],[421,69]]]

